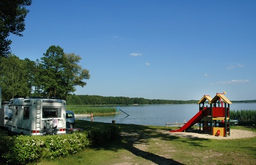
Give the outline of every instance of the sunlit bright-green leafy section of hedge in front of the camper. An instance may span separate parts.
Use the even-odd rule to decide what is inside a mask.
[[[42,158],[54,159],[75,154],[90,145],[87,133],[63,136],[13,136],[13,146],[3,154],[8,163],[26,164]]]

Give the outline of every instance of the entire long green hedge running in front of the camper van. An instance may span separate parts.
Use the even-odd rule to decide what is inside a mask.
[[[119,136],[120,128],[113,125],[104,129],[62,136],[1,137],[1,154],[8,164],[26,164],[76,154],[86,147],[102,145]]]

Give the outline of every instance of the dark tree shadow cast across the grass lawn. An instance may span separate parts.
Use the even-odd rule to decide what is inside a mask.
[[[79,123],[79,122],[77,122]],[[83,122],[83,129],[95,129],[100,127],[106,127],[111,125],[109,123],[100,123],[100,122]],[[125,149],[132,154],[142,157],[143,159],[147,159],[148,161],[152,161],[156,164],[181,164],[180,162],[174,161],[173,159],[168,159],[166,157],[162,157],[160,155],[154,154],[152,152],[147,152],[145,150],[141,150],[136,146],[138,145],[148,145],[147,140],[152,138],[158,138],[159,140],[164,141],[182,141],[183,143],[189,143],[189,145],[193,145],[195,147],[204,147],[201,145],[202,141],[198,138],[180,138],[179,136],[172,136],[168,134],[168,130],[160,129],[159,127],[154,126],[141,126],[135,124],[116,124],[120,126],[122,139],[120,141],[114,141],[109,144],[106,144],[102,147],[94,148],[95,150],[113,150],[114,152],[118,152],[118,150]],[[81,126],[78,125],[77,126]],[[166,131],[166,133],[163,133]]]

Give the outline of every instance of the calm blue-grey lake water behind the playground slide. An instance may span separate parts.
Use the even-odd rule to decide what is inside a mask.
[[[138,124],[148,126],[165,126],[167,122],[188,122],[198,111],[198,104],[157,104],[136,106],[113,106],[119,113],[112,116],[94,116],[95,122],[111,123],[116,120],[118,124]],[[256,103],[230,104],[230,110],[256,110]],[[90,120],[90,117],[79,118]]]

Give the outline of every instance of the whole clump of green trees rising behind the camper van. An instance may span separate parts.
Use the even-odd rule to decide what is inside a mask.
[[[3,101],[27,96],[67,99],[70,92],[76,91],[76,85],[84,87],[84,79],[90,78],[89,71],[79,66],[80,60],[79,55],[65,54],[63,48],[54,45],[48,48],[41,62],[20,60],[12,54],[0,57]]]

